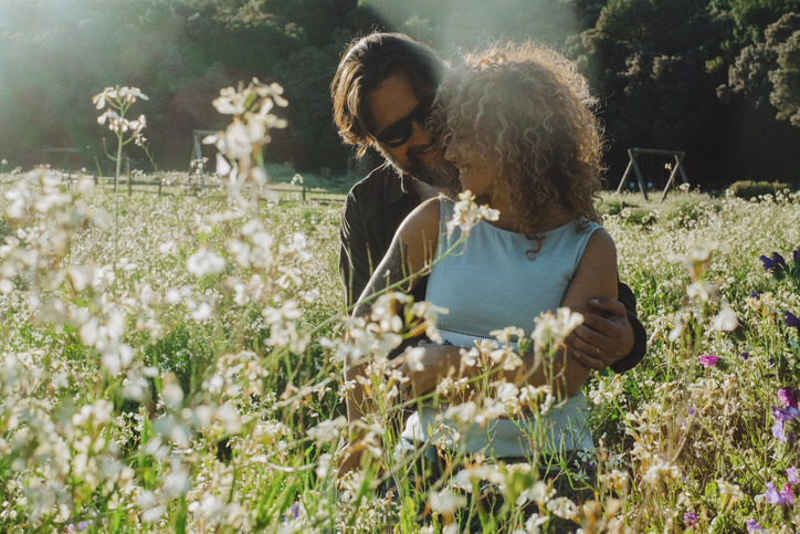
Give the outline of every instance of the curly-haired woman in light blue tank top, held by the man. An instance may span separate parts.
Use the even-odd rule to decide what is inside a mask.
[[[476,374],[475,367],[462,365],[461,347],[492,338],[493,331],[514,325],[530,332],[541,312],[579,311],[588,308],[592,297],[617,297],[614,244],[598,224],[594,207],[600,136],[586,80],[570,62],[530,43],[470,55],[445,77],[429,126],[442,132],[445,157],[459,168],[462,189],[472,191],[478,205],[499,210],[499,217],[480,222],[463,251],[436,258],[431,269],[427,300],[450,313],[436,324],[445,344],[427,345],[421,358],[399,364],[413,394],[433,390],[451,369]],[[414,210],[354,314],[369,313],[372,295],[389,281],[422,271],[434,251],[442,254],[459,238],[457,231],[449,235],[452,217],[453,203],[440,198]],[[569,355],[546,365],[536,365],[534,354],[520,356],[522,369],[497,369],[493,380],[550,385],[568,398],[546,421],[549,446],[531,442],[523,430],[530,416],[476,425],[452,448],[497,459],[530,457],[543,448],[592,448],[579,392],[588,369]],[[359,373],[361,367],[346,371],[356,385],[348,398],[351,422],[370,410],[356,380]],[[445,431],[445,408],[423,401],[407,422],[403,443],[419,447]],[[351,469],[357,457],[346,459],[340,473]]]

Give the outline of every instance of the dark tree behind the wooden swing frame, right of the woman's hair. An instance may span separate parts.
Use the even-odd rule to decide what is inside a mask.
[[[719,150],[725,116],[707,69],[714,24],[702,0],[609,0],[594,28],[569,40],[602,102],[612,184],[630,147],[680,149],[694,179]],[[614,165],[614,164],[621,165]]]

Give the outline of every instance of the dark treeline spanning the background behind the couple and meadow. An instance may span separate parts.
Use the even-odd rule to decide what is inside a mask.
[[[27,167],[43,146],[77,147],[93,167],[110,137],[91,97],[134,85],[150,96],[133,112],[156,161],[186,169],[191,132],[228,123],[219,90],[256,76],[290,101],[267,159],[343,171],[351,153],[328,85],[373,29],[445,59],[499,38],[560,48],[601,100],[612,185],[629,147],[686,151],[695,184],[800,177],[800,0],[3,0],[0,159]],[[656,187],[665,163],[642,161]]]

